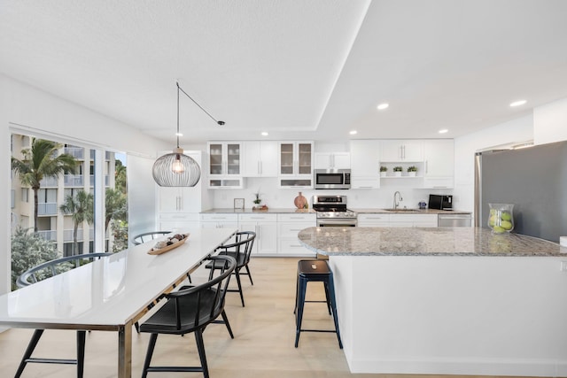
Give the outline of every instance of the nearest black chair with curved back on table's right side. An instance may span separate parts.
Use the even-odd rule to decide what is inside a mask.
[[[167,294],[166,304],[140,325],[140,332],[151,334],[142,378],[148,372],[203,372],[205,378],[209,377],[203,331],[221,315],[229,328],[224,312],[224,298],[230,274],[237,266],[237,261],[230,256],[213,256],[210,259],[215,266],[221,266],[220,275],[198,286]],[[150,366],[159,334],[185,335],[190,332],[195,334],[201,366]],[[233,337],[230,328],[229,332]]]

